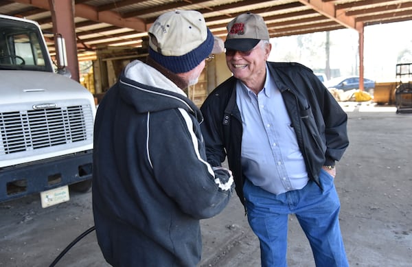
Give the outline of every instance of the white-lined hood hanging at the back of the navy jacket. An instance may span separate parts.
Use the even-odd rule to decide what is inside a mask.
[[[119,93],[122,100],[134,106],[138,113],[183,108],[199,122],[203,120],[201,111],[183,90],[157,69],[139,60],[130,62],[120,75]]]

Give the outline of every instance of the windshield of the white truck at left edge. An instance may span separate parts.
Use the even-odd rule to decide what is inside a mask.
[[[30,23],[0,19],[0,69],[50,71],[40,34]]]

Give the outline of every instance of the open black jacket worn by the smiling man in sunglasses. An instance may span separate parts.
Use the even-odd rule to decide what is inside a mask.
[[[320,186],[322,165],[339,161],[349,146],[347,114],[311,69],[293,62],[267,64],[268,75],[282,92],[308,176]],[[213,166],[220,165],[227,156],[236,192],[244,204],[245,177],[240,161],[242,118],[236,104],[236,81],[232,76],[209,94],[201,107],[204,116],[201,128],[207,161]]]

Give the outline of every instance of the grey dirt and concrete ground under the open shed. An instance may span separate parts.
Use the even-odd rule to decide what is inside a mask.
[[[350,266],[402,267],[412,262],[412,114],[393,106],[342,102],[349,115],[350,147],[337,165],[341,229]],[[237,196],[203,220],[200,266],[260,266],[259,244]],[[38,195],[0,203],[0,267],[49,266],[92,227],[91,193],[45,209]],[[290,216],[288,264],[314,266],[310,246]],[[56,266],[108,266],[94,231]]]

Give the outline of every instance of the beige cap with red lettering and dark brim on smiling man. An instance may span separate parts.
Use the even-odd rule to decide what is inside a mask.
[[[247,12],[236,16],[227,25],[226,49],[248,51],[260,40],[269,40],[269,32],[262,16]]]

